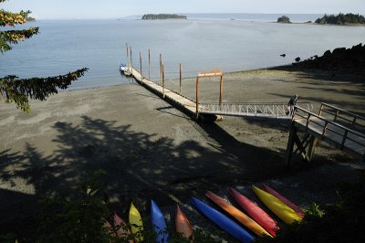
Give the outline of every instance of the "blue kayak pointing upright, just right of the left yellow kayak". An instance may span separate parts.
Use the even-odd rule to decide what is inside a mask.
[[[151,200],[151,223],[153,231],[157,234],[156,241],[167,243],[169,235],[167,234],[166,222],[159,206],[153,200]]]

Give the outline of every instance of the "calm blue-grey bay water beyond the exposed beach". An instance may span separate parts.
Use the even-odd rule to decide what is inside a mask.
[[[80,90],[130,82],[119,72],[120,61],[126,62],[126,43],[132,48],[133,65],[138,69],[141,51],[145,76],[151,48],[151,78],[159,79],[162,53],[166,79],[176,79],[179,63],[183,65],[183,77],[217,68],[224,72],[258,69],[288,64],[297,57],[322,55],[328,49],[350,48],[365,38],[364,26],[283,25],[267,21],[274,16],[261,21],[256,21],[257,16],[231,16],[235,20],[228,16],[200,17],[186,21],[125,18],[30,23],[29,26],[40,27],[40,34],[2,55],[0,76],[48,77],[87,67],[85,77],[70,88]],[[301,16],[297,21],[316,19],[311,17]],[[279,56],[283,53],[286,58]]]

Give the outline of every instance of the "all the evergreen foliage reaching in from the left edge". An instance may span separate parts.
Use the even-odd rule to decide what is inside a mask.
[[[0,3],[5,1],[0,0]],[[26,19],[32,19],[29,17],[30,13],[30,11],[11,13],[0,9],[0,27],[23,25],[26,23]],[[38,27],[0,31],[1,53],[4,54],[12,49],[11,45],[16,45],[19,41],[36,34],[38,34]],[[57,93],[58,89],[67,89],[71,82],[84,75],[85,71],[87,71],[86,68],[78,69],[66,75],[48,78],[18,79],[16,75],[0,78],[0,100],[5,100],[6,103],[15,102],[18,109],[30,111],[29,99],[46,100],[49,95]]]

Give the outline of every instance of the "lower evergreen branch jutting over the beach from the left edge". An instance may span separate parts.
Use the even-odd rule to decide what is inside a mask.
[[[65,90],[72,81],[84,75],[88,69],[78,69],[66,75],[57,77],[18,79],[16,76],[6,76],[0,79],[0,99],[6,103],[15,102],[16,108],[29,112],[29,100],[46,100],[51,94]]]

